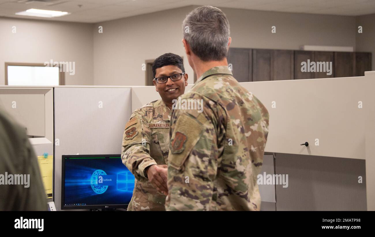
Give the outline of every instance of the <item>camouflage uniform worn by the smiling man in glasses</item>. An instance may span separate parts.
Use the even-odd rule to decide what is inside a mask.
[[[125,126],[121,159],[135,176],[127,210],[165,210],[165,195],[148,181],[145,168],[168,164],[171,110],[163,101],[150,102],[133,111]]]

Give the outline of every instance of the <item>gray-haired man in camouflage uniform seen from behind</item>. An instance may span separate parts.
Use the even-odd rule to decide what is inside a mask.
[[[220,9],[196,8],[183,29],[185,52],[199,79],[181,101],[201,101],[203,110],[172,110],[166,210],[260,210],[257,175],[268,111],[228,69],[231,38]]]

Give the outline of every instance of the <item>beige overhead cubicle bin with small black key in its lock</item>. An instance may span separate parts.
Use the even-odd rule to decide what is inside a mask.
[[[371,105],[373,93],[367,88],[373,88],[374,79],[366,75],[240,84],[270,114],[265,151],[365,159],[365,103]],[[300,146],[305,142],[311,145]]]

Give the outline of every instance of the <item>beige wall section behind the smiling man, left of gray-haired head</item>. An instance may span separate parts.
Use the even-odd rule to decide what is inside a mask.
[[[95,24],[94,85],[145,86],[142,63],[172,52],[184,57],[193,83],[193,70],[184,52],[182,21],[193,6]],[[103,27],[103,33],[98,27]]]

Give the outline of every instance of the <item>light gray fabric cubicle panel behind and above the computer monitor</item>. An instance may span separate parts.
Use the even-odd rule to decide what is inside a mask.
[[[62,155],[120,154],[132,104],[130,88],[58,87],[54,92],[54,201],[61,210]]]

